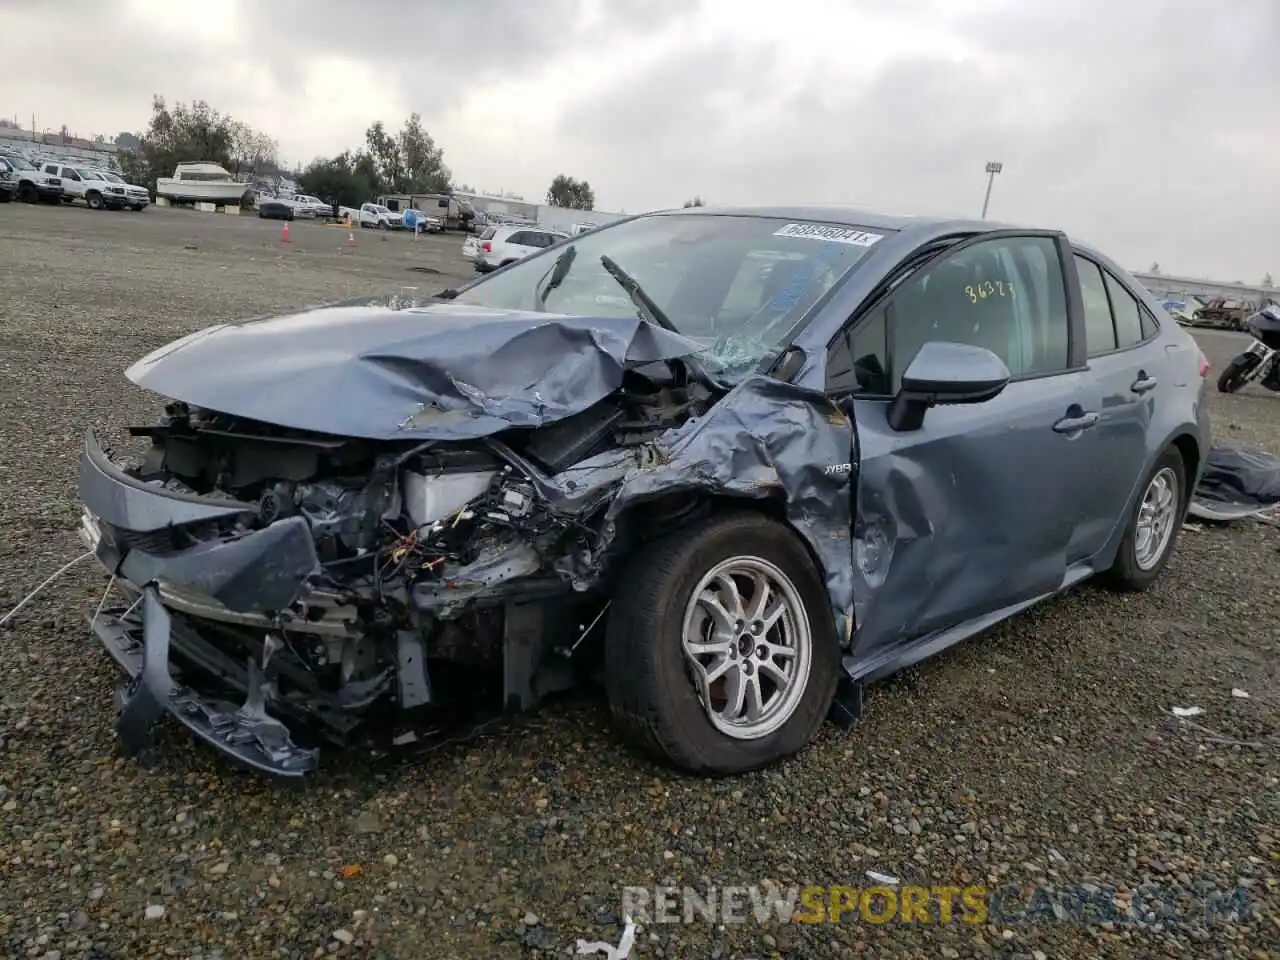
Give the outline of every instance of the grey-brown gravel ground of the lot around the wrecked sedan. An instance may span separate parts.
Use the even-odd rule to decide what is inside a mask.
[[[148,422],[125,365],[218,320],[466,276],[457,237],[148,210],[0,206],[0,611],[76,557],[90,424]],[[422,275],[411,268],[438,274]],[[1207,334],[1215,367],[1239,338]],[[1219,439],[1280,449],[1280,397],[1213,396]],[[632,956],[1280,957],[1277,530],[1184,532],[1149,594],[1084,586],[877,685],[780,769],[673,777],[596,699],[310,783],[236,771],[166,724],[116,756],[88,564],[0,630],[0,952],[31,957],[568,955],[617,942],[627,884],[1243,884],[1170,923],[643,929]],[[1252,696],[1235,698],[1239,687]],[[1198,705],[1196,724],[1172,705]],[[1271,951],[1271,952],[1268,952]]]

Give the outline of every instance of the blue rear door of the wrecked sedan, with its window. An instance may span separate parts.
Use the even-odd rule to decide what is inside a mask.
[[[1069,550],[1071,563],[1098,553],[1128,516],[1146,467],[1147,431],[1161,396],[1157,387],[1172,385],[1156,319],[1105,266],[1084,253],[1074,260],[1089,358],[1084,396],[1098,413],[1098,426],[1088,440],[1096,466],[1084,477],[1089,493]]]

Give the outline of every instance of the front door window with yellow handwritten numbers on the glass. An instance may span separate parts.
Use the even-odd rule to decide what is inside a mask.
[[[1069,324],[1057,242],[1004,237],[947,253],[902,282],[887,321],[891,393],[929,340],[986,347],[1012,376],[1065,370]]]

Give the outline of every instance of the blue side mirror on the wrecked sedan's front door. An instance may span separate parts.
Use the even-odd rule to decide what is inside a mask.
[[[986,347],[931,340],[902,374],[888,407],[893,430],[919,430],[924,411],[938,403],[984,403],[1009,384],[1005,361]]]

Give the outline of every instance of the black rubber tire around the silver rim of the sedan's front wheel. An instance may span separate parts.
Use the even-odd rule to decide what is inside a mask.
[[[685,660],[681,631],[699,580],[732,557],[767,561],[795,586],[812,636],[808,682],[773,732],[739,740],[707,716]],[[632,746],[660,763],[732,776],[797,753],[822,726],[840,675],[831,600],[808,550],[759,513],[721,513],[643,548],[623,572],[605,635],[605,689],[614,722]]]

